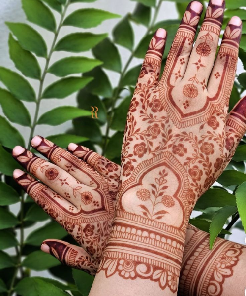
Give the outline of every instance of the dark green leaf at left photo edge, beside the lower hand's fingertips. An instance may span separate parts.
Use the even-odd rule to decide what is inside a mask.
[[[12,176],[15,169],[23,169],[12,155],[0,145],[0,172],[7,176]]]

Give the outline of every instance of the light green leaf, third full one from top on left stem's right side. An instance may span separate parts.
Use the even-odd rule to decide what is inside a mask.
[[[86,57],[68,57],[54,63],[48,72],[59,77],[64,77],[70,74],[85,73],[93,68],[101,65],[102,62]]]

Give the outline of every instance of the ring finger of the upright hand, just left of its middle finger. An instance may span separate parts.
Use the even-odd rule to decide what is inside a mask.
[[[183,78],[202,10],[203,6],[198,1],[192,1],[187,6],[167,56],[159,85],[173,86]]]

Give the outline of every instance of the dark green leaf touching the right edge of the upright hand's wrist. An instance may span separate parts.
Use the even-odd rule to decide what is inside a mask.
[[[197,201],[196,209],[206,209],[210,207],[236,207],[235,195],[225,191],[224,189],[211,188],[206,191]]]

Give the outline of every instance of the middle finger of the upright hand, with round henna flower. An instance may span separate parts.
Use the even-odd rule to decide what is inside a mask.
[[[184,74],[185,81],[207,85],[215,61],[224,9],[224,0],[210,0]]]

